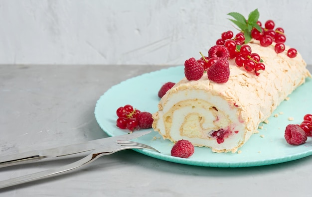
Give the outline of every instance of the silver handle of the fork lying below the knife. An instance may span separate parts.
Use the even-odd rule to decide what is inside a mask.
[[[41,171],[41,172],[37,172],[37,173],[33,173],[33,174],[24,175],[21,177],[16,177],[16,178],[8,179],[5,181],[1,181],[0,182],[0,189],[10,187],[10,186],[15,186],[18,184],[31,182],[31,181],[44,179],[47,177],[56,176],[59,174],[63,174],[63,173],[66,173],[68,171],[82,167],[86,164],[89,164],[89,163],[93,162],[94,160],[96,160],[97,158],[99,158],[103,155],[108,155],[108,154],[111,154],[111,153],[95,154],[92,152],[91,154],[87,155],[86,157],[84,157],[84,158],[82,158],[76,162],[73,162],[71,164],[68,164],[68,165],[65,165],[65,166],[62,166],[59,168]]]

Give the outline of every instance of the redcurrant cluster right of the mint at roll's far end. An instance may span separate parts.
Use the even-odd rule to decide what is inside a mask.
[[[283,53],[285,51],[286,36],[282,27],[275,28],[275,22],[273,20],[267,20],[262,27],[262,23],[257,21],[257,24],[261,27],[261,31],[256,28],[251,30],[251,37],[260,41],[260,45],[267,47],[275,42],[275,52]],[[275,29],[274,29],[275,28]],[[287,50],[287,56],[294,58],[297,56],[297,50],[290,48]]]

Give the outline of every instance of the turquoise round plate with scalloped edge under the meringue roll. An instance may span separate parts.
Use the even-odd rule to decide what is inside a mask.
[[[183,66],[162,69],[156,72],[126,80],[109,89],[96,103],[95,118],[100,127],[109,136],[128,133],[129,130],[116,126],[116,109],[131,104],[141,111],[154,113],[157,111],[159,98],[157,93],[166,82],[178,82],[184,77]],[[170,150],[173,145],[163,140],[155,131],[134,141],[148,144],[160,153],[145,149],[135,151],[161,160],[180,164],[207,167],[250,167],[277,164],[312,155],[312,138],[300,146],[289,145],[284,138],[288,124],[300,124],[303,116],[312,113],[312,80],[296,89],[283,101],[269,118],[269,123],[261,123],[262,129],[239,149],[239,153],[213,153],[209,148],[195,147],[194,154],[187,158],[172,157]],[[277,117],[276,117],[277,116]],[[293,120],[289,120],[293,118]]]

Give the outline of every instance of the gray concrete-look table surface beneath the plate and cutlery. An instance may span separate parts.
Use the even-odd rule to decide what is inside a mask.
[[[98,98],[121,81],[162,68],[1,65],[0,154],[107,137],[94,117]],[[2,168],[0,181],[63,166],[80,157]],[[2,189],[0,196],[304,197],[312,196],[311,184],[312,157],[270,166],[210,168],[125,150],[66,175]]]

